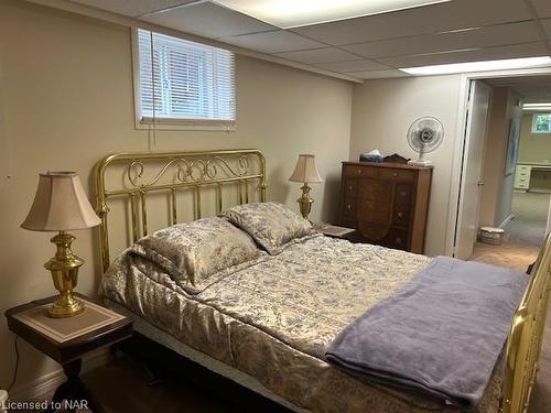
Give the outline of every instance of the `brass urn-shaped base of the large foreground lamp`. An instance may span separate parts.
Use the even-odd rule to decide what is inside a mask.
[[[78,269],[84,260],[73,254],[71,243],[75,237],[60,231],[51,239],[56,244],[57,251],[48,262],[44,264],[52,272],[55,289],[60,292],[60,298],[47,308],[51,317],[73,317],[84,312],[84,304],[73,296],[78,280]]]

